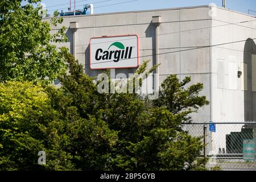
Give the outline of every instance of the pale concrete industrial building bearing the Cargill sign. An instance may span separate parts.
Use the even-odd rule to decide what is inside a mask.
[[[255,16],[222,7],[197,6],[63,18],[60,26],[68,27],[69,41],[59,46],[70,48],[89,76],[97,76],[105,68],[128,75],[143,60],[151,60],[148,68],[161,64],[152,87],[159,86],[171,74],[180,79],[191,76],[191,84],[204,84],[200,94],[207,96],[210,104],[192,114],[194,122],[256,121]],[[126,64],[130,58],[125,43],[119,45],[120,52],[113,52],[113,59],[109,58],[110,44],[127,39],[134,39],[131,48],[137,52],[135,57],[131,53],[130,58],[137,59]],[[106,44],[104,48],[102,43]],[[95,66],[93,53],[97,53],[98,60],[105,55],[110,61]],[[121,54],[125,59],[114,61],[114,55]],[[237,130],[241,128],[242,125]],[[219,137],[225,138],[226,134]],[[222,147],[225,143],[216,143],[212,150]]]

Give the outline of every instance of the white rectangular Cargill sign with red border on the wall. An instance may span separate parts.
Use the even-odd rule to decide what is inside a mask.
[[[136,68],[139,66],[137,35],[90,39],[90,69]]]

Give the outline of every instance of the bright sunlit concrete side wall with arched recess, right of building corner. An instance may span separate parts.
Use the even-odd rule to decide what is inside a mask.
[[[212,121],[256,121],[251,65],[256,47],[255,40],[250,40],[256,38],[256,19],[222,8],[214,8],[213,12],[210,30]],[[238,71],[242,71],[240,78]],[[226,134],[241,131],[241,127],[216,125],[216,133],[212,133],[214,153],[218,153],[218,148],[226,148]]]

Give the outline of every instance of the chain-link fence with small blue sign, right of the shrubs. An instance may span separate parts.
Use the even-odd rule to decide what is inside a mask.
[[[207,122],[184,124],[193,137],[202,137],[202,156],[209,158],[207,168],[256,171],[256,122]]]

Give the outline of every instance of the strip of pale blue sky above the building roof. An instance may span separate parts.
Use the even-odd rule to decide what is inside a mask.
[[[74,7],[74,1],[75,0],[71,0],[72,10]],[[52,14],[55,10],[67,11],[69,7],[69,0],[42,0],[42,3],[46,5],[48,14]],[[83,5],[89,3],[94,4],[94,14],[200,6],[209,5],[209,3],[215,3],[220,7],[222,6],[222,0],[76,0],[76,9],[83,9]],[[256,11],[256,1],[226,0],[226,8],[240,11],[242,13],[248,13],[249,9]],[[256,13],[253,11],[250,11],[250,14],[256,15]]]

